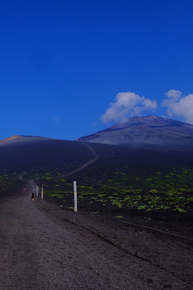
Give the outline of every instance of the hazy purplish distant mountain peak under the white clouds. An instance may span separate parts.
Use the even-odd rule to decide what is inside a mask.
[[[76,141],[121,146],[190,146],[193,145],[193,125],[156,116],[131,117],[107,129]]]

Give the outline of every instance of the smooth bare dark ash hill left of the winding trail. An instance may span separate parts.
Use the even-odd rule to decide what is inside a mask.
[[[36,168],[71,170],[93,158],[84,143],[45,137],[17,136],[0,143],[0,171],[9,173]]]

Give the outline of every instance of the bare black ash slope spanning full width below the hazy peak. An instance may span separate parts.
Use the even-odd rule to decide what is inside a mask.
[[[20,174],[24,171],[52,169],[56,175],[57,172],[67,174],[96,157],[87,145],[98,155],[98,160],[92,163],[92,168],[95,164],[99,168],[97,175],[100,175],[100,166],[106,166],[106,172],[111,173],[116,168],[121,171],[123,166],[139,162],[147,167],[150,163],[156,166],[161,164],[193,167],[192,148],[149,148],[135,144],[116,146],[90,142],[85,144],[44,137],[16,136],[0,142],[0,173]],[[87,171],[88,167],[82,168],[80,173]]]

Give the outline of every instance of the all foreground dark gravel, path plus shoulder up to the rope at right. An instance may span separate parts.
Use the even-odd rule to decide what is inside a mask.
[[[192,240],[31,201],[32,182],[0,199],[0,284],[20,289],[193,289]],[[124,221],[166,231],[156,220]],[[191,229],[173,225],[186,235]]]

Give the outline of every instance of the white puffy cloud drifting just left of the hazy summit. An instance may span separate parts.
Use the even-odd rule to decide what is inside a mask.
[[[141,115],[142,111],[157,108],[156,100],[151,101],[144,96],[140,97],[134,92],[118,93],[115,102],[111,103],[101,120],[104,123],[109,121],[126,122],[129,116]]]

